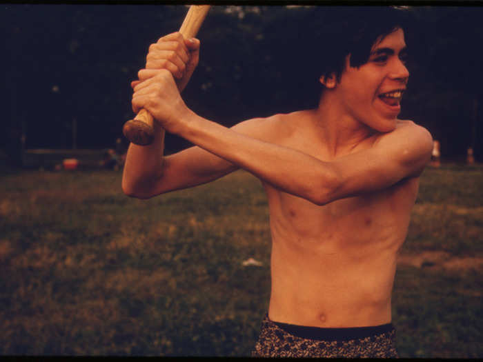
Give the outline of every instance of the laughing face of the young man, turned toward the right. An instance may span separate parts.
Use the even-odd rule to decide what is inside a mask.
[[[404,32],[397,29],[375,42],[366,63],[359,68],[346,68],[332,88],[344,113],[378,132],[394,130],[401,111],[400,101],[406,89],[409,72],[404,66],[406,43]]]

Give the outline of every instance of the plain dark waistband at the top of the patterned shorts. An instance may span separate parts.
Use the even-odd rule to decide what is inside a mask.
[[[319,328],[275,322],[268,318],[268,314],[266,315],[266,319],[294,336],[304,339],[315,339],[317,341],[350,341],[351,339],[364,339],[395,330],[393,323],[371,327]]]

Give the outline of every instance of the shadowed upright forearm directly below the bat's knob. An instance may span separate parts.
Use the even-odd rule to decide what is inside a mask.
[[[124,193],[146,198],[161,177],[164,163],[165,130],[154,122],[155,139],[150,145],[130,143],[124,164],[122,189]]]

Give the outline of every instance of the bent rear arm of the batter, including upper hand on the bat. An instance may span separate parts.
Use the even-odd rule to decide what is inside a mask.
[[[131,86],[135,88],[141,81],[153,77],[160,70],[168,70],[175,77],[176,86],[181,92],[193,74],[198,60],[197,39],[184,39],[179,32],[168,34],[149,47],[146,68],[139,71],[139,81],[133,81]],[[152,144],[129,145],[122,180],[124,193],[129,196],[145,199],[168,190],[210,181],[233,169],[230,168],[230,163],[219,162],[219,158],[200,148],[191,148],[177,155],[164,157],[165,130],[159,123],[155,123],[154,128],[155,140]],[[160,181],[161,178],[163,182]]]

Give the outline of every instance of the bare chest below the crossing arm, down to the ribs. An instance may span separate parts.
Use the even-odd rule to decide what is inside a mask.
[[[335,250],[380,243],[399,244],[406,237],[417,194],[417,180],[319,206],[266,185],[274,241],[302,248]]]

